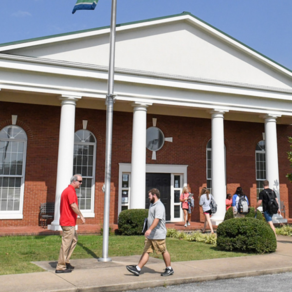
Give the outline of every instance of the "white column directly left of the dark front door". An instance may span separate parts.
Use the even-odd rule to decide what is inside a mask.
[[[149,104],[133,103],[130,209],[145,209],[146,114]]]

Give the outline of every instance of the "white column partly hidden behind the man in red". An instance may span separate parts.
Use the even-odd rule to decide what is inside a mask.
[[[74,151],[74,128],[75,128],[75,107],[76,101],[80,97],[62,96],[60,131],[59,131],[59,150],[56,178],[55,195],[55,216],[49,230],[61,230],[60,220],[60,199],[63,190],[70,184],[73,175],[73,151]]]

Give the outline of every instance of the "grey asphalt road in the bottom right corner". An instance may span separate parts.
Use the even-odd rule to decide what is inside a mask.
[[[240,263],[239,263],[240,264]],[[128,292],[290,292],[292,273],[207,281]]]

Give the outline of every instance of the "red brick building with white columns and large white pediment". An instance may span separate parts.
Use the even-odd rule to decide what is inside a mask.
[[[0,226],[37,225],[73,173],[87,223],[102,225],[109,34],[0,46]],[[115,66],[110,224],[145,208],[151,187],[166,219],[182,221],[184,185],[212,189],[219,223],[226,192],[240,185],[255,205],[264,179],[289,218],[290,70],[189,13],[117,26]]]

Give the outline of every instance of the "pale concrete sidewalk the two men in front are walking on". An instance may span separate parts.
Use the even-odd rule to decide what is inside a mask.
[[[142,251],[142,247],[141,247]],[[292,237],[277,237],[273,254],[173,262],[175,273],[160,275],[163,260],[150,257],[140,276],[130,274],[126,265],[136,264],[140,256],[113,257],[111,262],[75,259],[75,270],[55,274],[56,262],[35,262],[46,272],[0,276],[1,292],[107,292],[176,285],[198,281],[236,278],[292,271]]]

